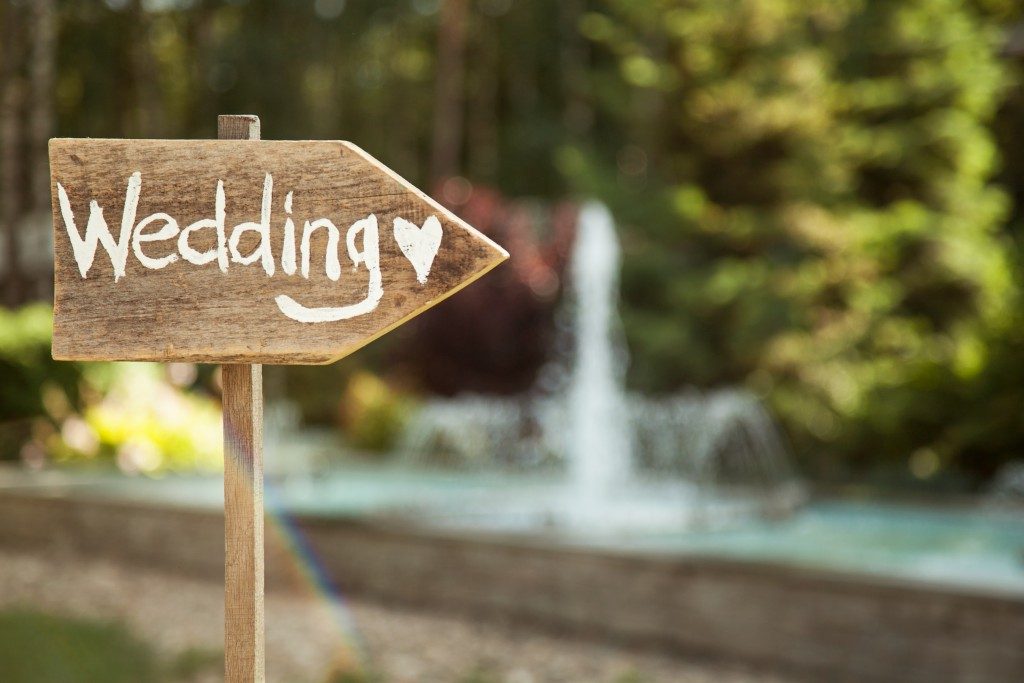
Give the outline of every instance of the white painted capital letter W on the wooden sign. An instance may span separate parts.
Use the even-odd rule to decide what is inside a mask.
[[[138,196],[142,189],[142,174],[135,171],[128,178],[128,188],[125,191],[125,207],[121,214],[121,234],[117,242],[111,234],[106,221],[103,219],[103,209],[92,200],[89,203],[89,222],[85,226],[85,238],[79,234],[78,227],[75,226],[75,214],[71,210],[71,202],[68,200],[68,193],[63,185],[57,183],[57,199],[60,202],[60,215],[65,219],[65,227],[68,229],[68,237],[71,238],[71,248],[75,253],[75,260],[78,262],[78,270],[86,278],[89,268],[92,267],[92,260],[96,256],[96,242],[103,246],[106,254],[111,257],[111,265],[114,266],[114,282],[119,281],[125,274],[125,265],[128,261],[128,246],[131,242],[131,231],[135,226],[135,211],[138,209]]]

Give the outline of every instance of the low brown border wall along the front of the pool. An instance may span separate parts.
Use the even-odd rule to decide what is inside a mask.
[[[529,622],[816,681],[1024,681],[1024,599],[706,558],[625,555],[299,518],[343,594]],[[0,545],[219,580],[223,518],[0,492]],[[293,554],[268,520],[267,586]]]

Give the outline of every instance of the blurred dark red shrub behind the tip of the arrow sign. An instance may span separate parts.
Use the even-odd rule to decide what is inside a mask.
[[[389,368],[417,390],[443,396],[536,390],[540,369],[563,341],[555,318],[575,208],[508,200],[479,186],[446,204],[503,245],[509,261],[396,331]]]

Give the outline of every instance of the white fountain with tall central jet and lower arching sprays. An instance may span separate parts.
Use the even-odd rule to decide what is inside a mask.
[[[401,443],[414,462],[542,473],[560,463],[565,479],[548,472],[525,493],[488,492],[478,503],[418,514],[457,525],[614,535],[721,526],[803,500],[783,439],[750,392],[626,391],[620,261],[610,213],[586,204],[570,262],[573,353],[567,372],[554,373],[567,376],[564,386],[540,399],[432,399]]]

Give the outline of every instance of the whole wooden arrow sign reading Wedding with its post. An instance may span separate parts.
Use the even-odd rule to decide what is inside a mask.
[[[229,683],[264,680],[262,366],[351,353],[504,249],[355,145],[50,140],[53,357],[223,365]]]

